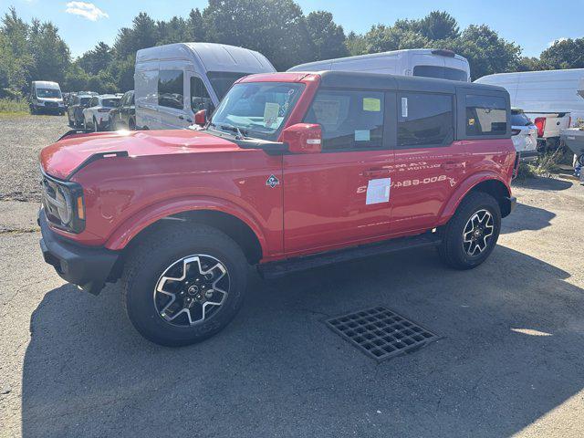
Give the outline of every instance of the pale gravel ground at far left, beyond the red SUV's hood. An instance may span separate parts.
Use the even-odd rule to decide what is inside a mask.
[[[0,116],[0,201],[39,201],[38,152],[70,128],[67,116]]]

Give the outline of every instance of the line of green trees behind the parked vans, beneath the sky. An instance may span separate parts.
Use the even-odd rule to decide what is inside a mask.
[[[539,57],[486,25],[460,29],[453,16],[433,11],[419,20],[371,26],[345,34],[327,11],[304,15],[294,0],[209,0],[186,17],[154,20],[141,12],[122,27],[112,46],[96,47],[73,59],[57,26],[26,23],[14,7],[0,22],[0,97],[26,95],[31,80],[54,80],[64,90],[98,92],[133,88],[136,51],[186,41],[224,43],[257,50],[277,70],[297,64],[404,48],[448,48],[466,57],[471,77],[507,71],[584,68],[584,37],[556,42]]]

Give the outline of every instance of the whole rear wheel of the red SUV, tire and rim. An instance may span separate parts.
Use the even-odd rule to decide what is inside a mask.
[[[495,198],[484,192],[469,193],[444,225],[438,252],[446,265],[472,269],[491,254],[500,231],[501,208]]]

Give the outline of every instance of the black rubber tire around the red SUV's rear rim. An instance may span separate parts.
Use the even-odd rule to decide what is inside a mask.
[[[487,210],[493,216],[494,233],[485,250],[478,255],[469,255],[464,250],[463,233],[469,219],[478,211]],[[467,194],[458,206],[454,216],[441,230],[442,244],[438,254],[443,262],[455,269],[472,269],[483,263],[495,248],[501,232],[501,208],[495,198],[488,193],[472,192]]]

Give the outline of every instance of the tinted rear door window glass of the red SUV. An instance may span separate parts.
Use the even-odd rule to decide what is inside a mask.
[[[454,140],[453,97],[398,95],[398,148],[445,146]]]

